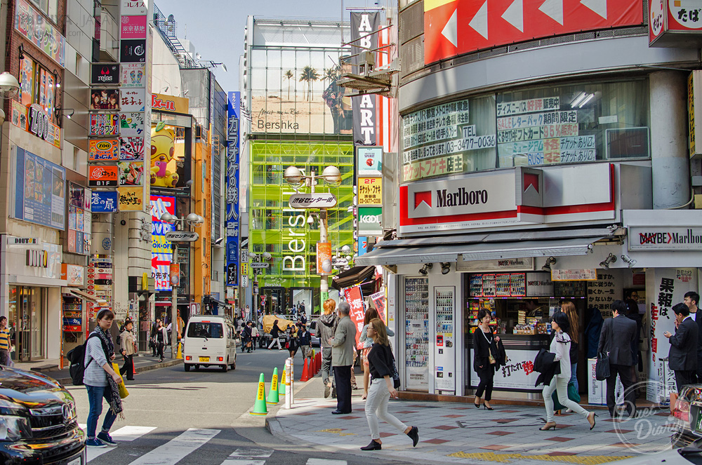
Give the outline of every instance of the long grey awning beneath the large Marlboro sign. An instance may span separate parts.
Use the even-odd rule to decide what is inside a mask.
[[[501,258],[563,257],[585,255],[592,244],[604,238],[569,238],[548,241],[516,241],[501,243],[463,243],[431,247],[385,247],[358,257],[356,264],[399,265],[463,260],[498,260]]]

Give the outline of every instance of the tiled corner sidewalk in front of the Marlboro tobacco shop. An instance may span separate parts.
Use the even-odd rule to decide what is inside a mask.
[[[362,383],[362,378],[357,380]],[[607,410],[595,410],[598,417],[592,431],[586,419],[574,414],[557,416],[555,431],[538,431],[545,422],[543,407],[494,405],[495,410],[489,411],[471,403],[390,400],[388,411],[417,426],[420,443],[412,447],[408,437],[381,422],[383,450],[364,452],[359,447],[371,438],[362,389],[352,391],[353,412],[343,416],[331,415],[336,400],[322,398],[322,391],[322,380],[315,377],[296,389],[293,409],[285,410],[281,399],[268,413],[267,429],[296,445],[412,463],[604,464],[670,449],[670,433],[637,438],[633,428],[640,426],[625,422],[616,431],[618,420],[609,418]],[[651,418],[666,424],[668,413],[656,410],[651,415],[657,417]]]

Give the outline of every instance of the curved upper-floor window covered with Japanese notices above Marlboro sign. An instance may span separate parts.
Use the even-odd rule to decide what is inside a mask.
[[[647,79],[541,86],[404,116],[402,180],[649,159]]]

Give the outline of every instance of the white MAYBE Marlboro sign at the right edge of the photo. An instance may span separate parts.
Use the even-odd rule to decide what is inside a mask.
[[[701,227],[629,227],[629,250],[700,250]]]

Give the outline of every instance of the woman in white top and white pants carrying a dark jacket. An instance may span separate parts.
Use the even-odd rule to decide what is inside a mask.
[[[556,334],[553,339],[551,339],[550,351],[556,354],[553,361],[554,363],[560,363],[561,372],[551,379],[551,383],[548,386],[543,386],[542,393],[543,403],[546,407],[546,424],[539,429],[541,431],[548,431],[551,428],[556,429],[556,422],[553,420],[553,398],[551,397],[553,391],[556,391],[558,402],[561,403],[561,405],[585,417],[588,423],[590,423],[590,429],[593,429],[595,428],[595,417],[597,416],[595,412],[588,412],[578,403],[568,398],[568,381],[571,377],[571,338],[568,335],[568,331],[570,330],[568,316],[562,311],[557,311],[553,314],[551,328]]]

